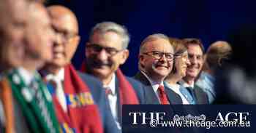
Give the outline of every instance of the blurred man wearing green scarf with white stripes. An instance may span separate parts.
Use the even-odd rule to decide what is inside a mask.
[[[12,4],[16,2],[20,1]],[[29,9],[29,19],[24,33],[23,62],[1,81],[5,132],[59,132],[50,93],[37,73],[52,58],[50,18],[41,4],[32,2],[25,8]]]

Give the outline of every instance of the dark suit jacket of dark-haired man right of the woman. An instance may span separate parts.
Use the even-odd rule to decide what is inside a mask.
[[[195,97],[196,97],[196,104],[208,104],[208,96],[206,92],[203,92],[203,89],[201,89],[199,86],[195,85],[194,90]]]

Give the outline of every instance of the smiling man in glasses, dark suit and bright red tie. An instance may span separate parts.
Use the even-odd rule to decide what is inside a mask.
[[[173,59],[173,47],[164,34],[150,35],[141,43],[140,72],[134,78],[147,86],[147,104],[182,104],[181,97],[163,82],[173,68]]]

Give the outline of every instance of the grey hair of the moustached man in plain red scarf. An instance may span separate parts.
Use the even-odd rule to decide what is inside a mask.
[[[123,41],[122,48],[127,49],[129,40],[130,40],[128,30],[127,28],[124,27],[124,25],[119,25],[117,23],[113,23],[113,22],[98,23],[97,25],[94,26],[94,28],[91,29],[89,39],[91,40],[91,36],[93,36],[95,32],[104,34],[109,31],[112,31],[120,35]]]

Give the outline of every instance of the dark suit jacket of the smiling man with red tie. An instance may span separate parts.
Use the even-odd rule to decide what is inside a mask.
[[[144,76],[143,73],[141,72],[138,72],[134,76],[134,78],[140,81],[144,86],[146,86],[146,89],[144,89],[144,97],[146,99],[146,104],[159,104],[157,95],[155,94],[154,89],[150,84],[150,81],[148,81],[148,78],[146,78],[146,76]],[[165,92],[167,93],[167,97],[170,104],[182,104],[181,97],[178,94],[176,94],[176,92],[173,92],[173,90],[168,89],[167,86],[165,86]]]

